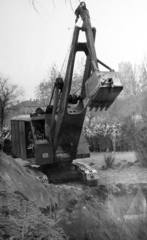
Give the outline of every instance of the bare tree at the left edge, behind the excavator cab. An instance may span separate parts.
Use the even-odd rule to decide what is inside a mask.
[[[2,129],[5,119],[20,96],[23,95],[22,89],[16,84],[11,84],[9,78],[0,75],[0,130]]]

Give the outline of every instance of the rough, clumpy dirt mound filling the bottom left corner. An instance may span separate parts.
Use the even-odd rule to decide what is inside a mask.
[[[45,217],[20,192],[0,192],[0,237],[2,239],[65,239],[54,221]]]

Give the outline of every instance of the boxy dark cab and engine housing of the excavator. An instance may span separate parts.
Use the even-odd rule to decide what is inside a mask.
[[[11,120],[12,156],[35,159],[38,165],[53,163],[53,147],[45,134],[45,117],[23,115]]]

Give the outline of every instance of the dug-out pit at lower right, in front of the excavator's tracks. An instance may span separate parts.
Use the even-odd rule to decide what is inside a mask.
[[[66,207],[59,226],[71,240],[146,240],[146,199],[146,184],[86,189]]]

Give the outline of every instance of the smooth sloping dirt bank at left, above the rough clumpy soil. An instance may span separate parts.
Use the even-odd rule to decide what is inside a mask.
[[[30,175],[15,160],[0,152],[0,189],[19,191],[37,207],[50,207],[51,195],[37,178]]]

